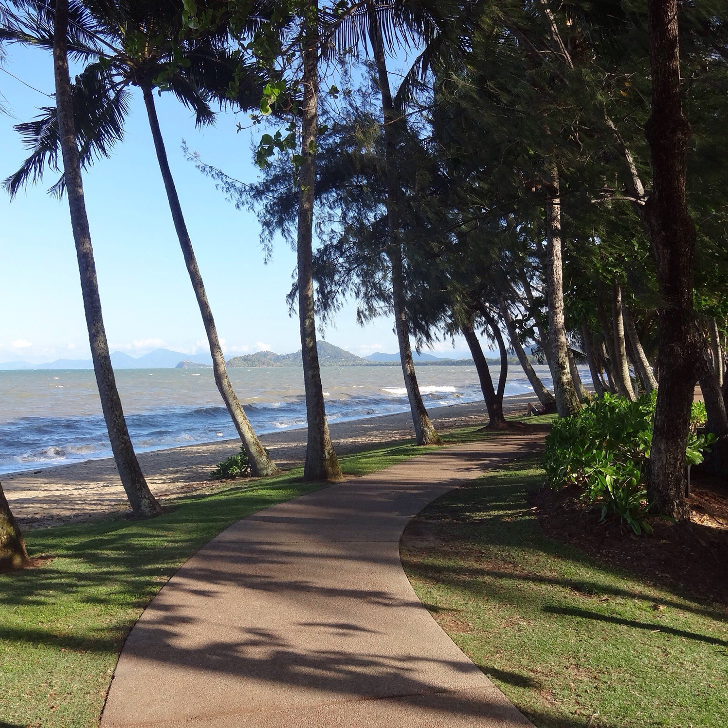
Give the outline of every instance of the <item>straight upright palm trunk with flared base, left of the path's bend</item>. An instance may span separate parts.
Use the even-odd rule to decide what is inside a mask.
[[[298,320],[301,326],[301,357],[306,390],[308,443],[304,480],[341,480],[341,466],[333,449],[326,421],[316,344],[313,279],[313,224],[316,183],[316,135],[318,127],[318,1],[309,3],[304,22],[303,92],[301,105],[301,167],[298,197]]]

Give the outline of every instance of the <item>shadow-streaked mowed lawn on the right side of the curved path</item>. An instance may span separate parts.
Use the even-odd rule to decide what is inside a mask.
[[[528,505],[542,471],[524,463],[405,533],[435,619],[539,728],[728,726],[727,610],[545,537]]]

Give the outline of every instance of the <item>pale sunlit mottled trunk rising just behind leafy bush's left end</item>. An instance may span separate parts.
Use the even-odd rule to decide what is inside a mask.
[[[561,268],[561,199],[558,168],[550,170],[550,190],[546,201],[546,295],[548,328],[553,358],[553,391],[558,416],[568,417],[579,411],[579,397],[569,371],[569,341],[563,321],[563,270]]]

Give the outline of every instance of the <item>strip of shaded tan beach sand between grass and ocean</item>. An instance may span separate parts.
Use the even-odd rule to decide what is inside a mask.
[[[527,404],[535,401],[534,395],[516,395],[505,397],[503,405],[506,414],[526,414]],[[430,417],[440,432],[484,424],[488,419],[483,402],[432,408]],[[332,422],[331,437],[341,456],[414,438],[414,430],[411,414],[402,412]],[[284,469],[304,462],[305,429],[261,435],[261,441]],[[209,479],[210,471],[239,447],[240,440],[220,440],[140,453],[138,458],[154,495],[169,499],[219,488],[220,483]],[[2,485],[15,518],[25,530],[91,521],[129,510],[112,458],[9,473],[2,476]]]

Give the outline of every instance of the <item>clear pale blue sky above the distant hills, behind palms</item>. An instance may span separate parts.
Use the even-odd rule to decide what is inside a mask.
[[[36,89],[52,93],[50,55],[11,47],[6,71]],[[52,99],[0,71],[0,92],[10,116],[0,116],[0,174],[5,178],[24,157],[12,125],[28,121]],[[259,243],[255,215],[235,210],[213,183],[183,159],[185,139],[206,162],[243,181],[258,175],[251,162],[251,132],[237,133],[237,121],[221,114],[215,127],[197,130],[189,111],[171,95],[157,98],[170,166],[197,253],[218,332],[227,355],[272,349],[300,349],[298,319],[285,296],[296,256],[279,242],[269,264]],[[253,130],[253,134],[260,133]],[[78,269],[66,199],[46,193],[48,176],[11,203],[0,196],[0,362],[48,361],[89,355]],[[106,331],[112,350],[141,355],[157,347],[196,353],[207,349],[181,251],[159,175],[141,94],[135,93],[127,134],[111,159],[84,176],[92,242]],[[392,321],[360,327],[349,304],[326,331],[331,343],[359,355],[395,352]],[[435,353],[466,355],[464,341],[450,341]]]

